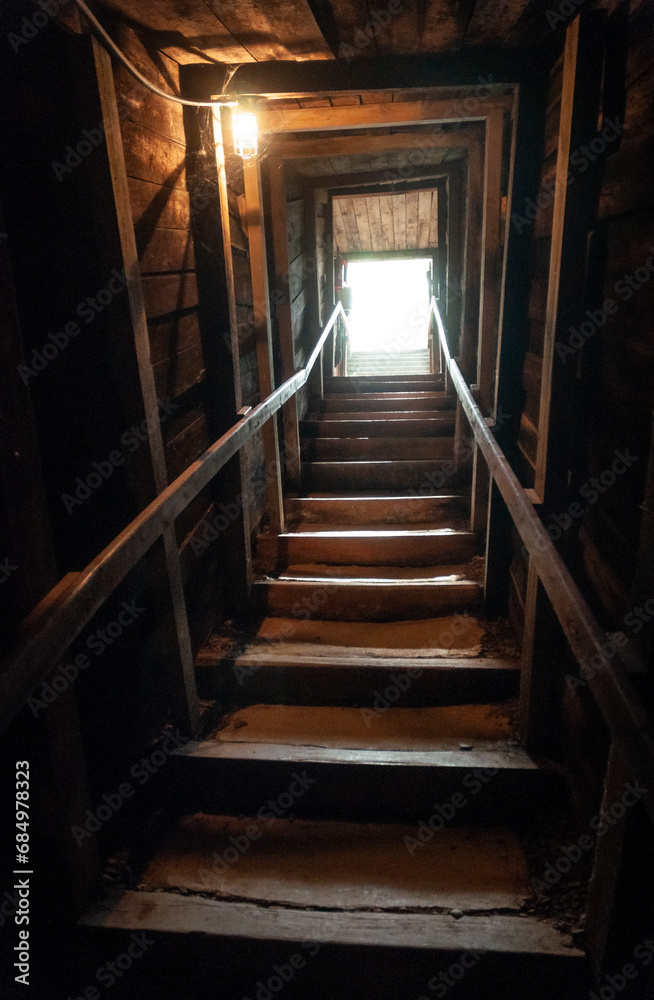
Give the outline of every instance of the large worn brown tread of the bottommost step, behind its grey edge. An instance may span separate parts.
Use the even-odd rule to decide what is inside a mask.
[[[311,794],[310,781],[298,794]],[[342,910],[518,911],[531,895],[524,852],[506,829],[445,827],[411,854],[404,838],[415,840],[415,825],[270,817],[181,817],[141,884]],[[235,863],[222,860],[229,848]]]

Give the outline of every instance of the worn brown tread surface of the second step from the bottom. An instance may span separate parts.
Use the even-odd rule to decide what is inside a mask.
[[[404,672],[408,686],[412,678]],[[504,750],[515,739],[512,703],[391,707],[377,713],[333,705],[250,705],[225,716],[212,739],[334,749]]]

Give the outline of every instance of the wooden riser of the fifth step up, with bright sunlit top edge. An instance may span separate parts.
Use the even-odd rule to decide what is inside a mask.
[[[468,562],[475,554],[471,531],[352,530],[302,531],[257,538],[257,558],[270,571],[291,563],[341,563],[359,566],[433,566]]]

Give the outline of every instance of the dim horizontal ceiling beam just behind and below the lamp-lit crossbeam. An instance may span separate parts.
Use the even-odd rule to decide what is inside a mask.
[[[468,149],[483,136],[482,129],[453,129],[451,132],[396,132],[367,135],[366,153],[388,153],[401,149]],[[351,156],[361,152],[361,136],[321,136],[319,139],[278,139],[270,137],[270,154],[284,160],[325,156]],[[418,165],[417,165],[418,166]]]

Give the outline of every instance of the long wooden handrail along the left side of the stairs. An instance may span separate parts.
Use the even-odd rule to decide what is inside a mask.
[[[45,680],[98,609],[154,543],[240,448],[304,386],[341,316],[339,302],[304,368],[218,438],[79,573],[69,573],[21,626],[18,647],[0,666],[0,732]]]

